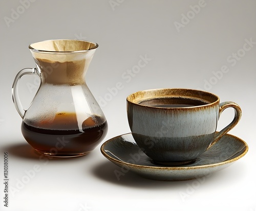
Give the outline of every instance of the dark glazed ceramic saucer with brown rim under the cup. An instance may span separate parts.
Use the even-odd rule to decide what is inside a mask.
[[[100,150],[106,158],[126,171],[148,179],[181,181],[207,176],[230,166],[247,153],[248,145],[239,137],[226,134],[195,162],[173,167],[155,164],[137,146],[132,133],[107,140]]]

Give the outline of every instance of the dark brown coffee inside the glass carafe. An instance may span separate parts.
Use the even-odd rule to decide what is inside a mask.
[[[84,120],[79,129],[76,114],[66,112],[57,113],[53,121],[46,119],[31,125],[22,123],[22,133],[27,142],[38,152],[61,157],[92,151],[108,128],[106,121],[95,115]]]

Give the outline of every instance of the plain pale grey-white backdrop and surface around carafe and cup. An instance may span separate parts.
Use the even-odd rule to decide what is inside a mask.
[[[4,207],[1,182],[0,210],[256,210],[255,1],[2,0],[0,11],[0,178],[4,152],[9,153],[10,178],[9,207]],[[20,132],[22,119],[12,103],[11,87],[20,69],[35,66],[30,43],[62,38],[99,44],[86,81],[97,101],[108,100],[100,103],[109,123],[104,141],[130,132],[130,93],[200,88],[241,106],[242,120],[229,133],[247,142],[248,153],[202,182],[153,181],[132,172],[118,180],[114,171],[120,168],[100,153],[104,141],[87,156],[39,160]],[[125,78],[141,57],[151,60],[131,80]],[[220,74],[225,66],[228,71]],[[122,89],[110,98],[118,82]],[[26,107],[36,91],[28,84],[36,86],[36,78],[20,83]],[[232,109],[225,110],[219,130],[232,115]],[[33,168],[35,175],[20,184]]]

